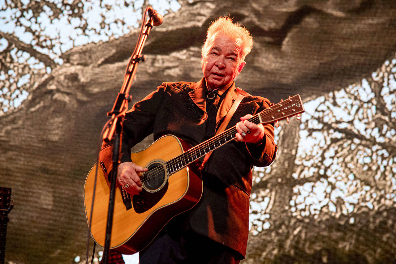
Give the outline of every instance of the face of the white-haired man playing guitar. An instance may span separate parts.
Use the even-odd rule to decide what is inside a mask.
[[[234,38],[216,33],[207,42],[202,54],[202,72],[208,89],[217,89],[232,82],[246,63],[240,57],[240,44]]]

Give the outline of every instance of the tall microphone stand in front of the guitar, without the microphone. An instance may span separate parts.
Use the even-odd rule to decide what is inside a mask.
[[[143,21],[146,20],[147,10],[151,7],[147,7]],[[144,22],[143,22],[144,23]],[[110,142],[113,135],[115,135],[114,146],[113,146],[113,156],[112,163],[113,169],[110,178],[110,197],[109,197],[109,210],[107,213],[107,227],[105,236],[105,248],[103,250],[102,263],[108,264],[110,255],[110,238],[113,223],[113,213],[114,213],[114,196],[116,189],[116,178],[118,164],[120,163],[120,152],[121,152],[121,139],[122,139],[122,125],[125,119],[125,109],[128,108],[128,102],[132,101],[132,96],[129,95],[129,90],[131,88],[133,77],[135,76],[136,68],[139,61],[145,61],[145,56],[141,55],[143,46],[146,42],[148,34],[153,27],[153,19],[150,16],[145,27],[141,28],[139,33],[138,43],[136,44],[135,51],[133,52],[128,67],[125,72],[124,83],[122,84],[121,90],[118,93],[114,106],[107,116],[111,116],[113,121],[110,123],[109,127],[103,134],[103,140],[105,142]],[[142,33],[143,32],[143,33]]]

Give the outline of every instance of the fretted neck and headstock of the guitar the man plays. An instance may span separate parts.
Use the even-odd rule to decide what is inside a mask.
[[[257,125],[260,123],[274,123],[278,120],[283,120],[302,112],[304,112],[304,108],[301,103],[301,97],[299,95],[295,95],[285,101],[281,101],[278,104],[274,104],[273,106],[266,108],[255,116],[249,118],[248,121]],[[183,154],[167,161],[166,169],[168,170],[168,175],[183,169],[209,152],[232,141],[235,139],[237,132],[236,125],[234,125],[223,133],[220,133],[219,135],[216,135],[207,141],[190,148]]]

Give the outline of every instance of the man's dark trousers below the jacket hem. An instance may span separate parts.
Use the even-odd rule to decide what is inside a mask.
[[[236,251],[195,232],[160,232],[139,252],[139,264],[238,264]]]

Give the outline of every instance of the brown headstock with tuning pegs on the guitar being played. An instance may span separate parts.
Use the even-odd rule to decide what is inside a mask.
[[[259,117],[261,123],[275,123],[291,116],[299,116],[303,112],[304,107],[300,95],[294,95],[263,110]]]

